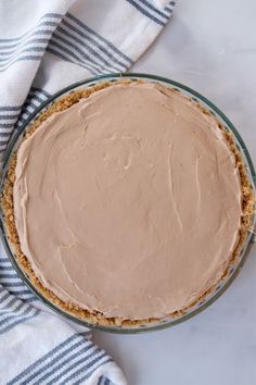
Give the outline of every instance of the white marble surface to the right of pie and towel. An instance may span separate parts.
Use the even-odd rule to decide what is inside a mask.
[[[256,159],[256,1],[179,0],[133,71],[165,75],[213,100]],[[144,335],[95,332],[129,385],[256,384],[256,247],[228,291],[197,316]]]

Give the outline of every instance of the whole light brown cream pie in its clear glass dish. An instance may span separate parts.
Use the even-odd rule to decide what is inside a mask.
[[[106,75],[51,98],[4,158],[2,232],[46,303],[110,331],[167,326],[239,271],[255,172],[232,124],[156,76]]]

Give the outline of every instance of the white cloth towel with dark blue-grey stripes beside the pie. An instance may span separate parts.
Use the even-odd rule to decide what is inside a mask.
[[[0,0],[0,154],[52,94],[125,72],[169,20],[169,0]],[[0,245],[0,384],[126,384],[90,331],[42,309]]]

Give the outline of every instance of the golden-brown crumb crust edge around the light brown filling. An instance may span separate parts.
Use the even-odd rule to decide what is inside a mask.
[[[143,80],[136,80],[137,83],[144,83]],[[92,86],[90,88],[81,89],[81,90],[76,90],[72,91],[68,96],[63,97],[62,99],[53,102],[46,111],[43,111],[37,119],[34,121],[28,128],[26,129],[23,140],[28,138],[40,126],[40,124],[46,121],[49,116],[51,116],[55,112],[64,111],[68,109],[71,105],[74,103],[77,103],[81,98],[88,98],[90,95],[92,95],[94,91],[106,88],[111,85],[116,85],[116,84],[130,84],[135,83],[135,80],[131,79],[121,79],[121,80],[116,80],[115,83],[110,83],[105,82],[95,86]],[[174,92],[177,92],[176,89],[168,87],[171,89]],[[209,116],[212,119],[216,117],[204,107],[202,107],[200,103],[192,101],[201,111]],[[169,316],[172,319],[176,319],[180,315],[185,314],[191,308],[194,308],[196,305],[201,303],[202,301],[205,300],[206,297],[208,297],[210,294],[215,291],[217,288],[218,284],[227,278],[229,276],[230,268],[232,268],[235,262],[239,259],[240,252],[242,250],[244,240],[246,238],[246,234],[252,225],[252,215],[254,212],[254,204],[255,204],[255,197],[254,197],[254,191],[253,187],[249,184],[249,181],[247,178],[245,165],[242,160],[242,156],[240,153],[240,150],[238,149],[233,136],[231,133],[227,132],[225,126],[218,122],[219,129],[223,131],[225,136],[227,138],[228,146],[230,148],[230,151],[233,152],[235,157],[235,163],[236,167],[240,173],[240,178],[241,178],[241,190],[242,190],[242,216],[241,216],[241,227],[240,227],[240,239],[238,243],[238,246],[233,250],[232,254],[227,258],[227,260],[223,262],[223,269],[221,270],[219,276],[209,284],[209,287],[207,290],[204,290],[195,300],[193,300],[189,306],[185,308],[182,308],[180,310],[175,311],[174,313],[170,313]],[[1,210],[3,213],[3,219],[4,219],[4,225],[5,229],[8,233],[8,240],[11,244],[14,253],[15,253],[15,259],[18,263],[18,266],[21,270],[27,275],[28,280],[33,284],[33,286],[43,296],[46,297],[50,302],[52,302],[54,306],[57,308],[64,310],[65,312],[68,312],[69,314],[74,315],[77,319],[84,320],[90,324],[94,325],[101,325],[101,326],[123,326],[123,327],[138,327],[141,325],[148,325],[157,321],[161,321],[161,319],[146,319],[146,320],[124,320],[121,318],[105,318],[103,313],[99,311],[88,311],[85,310],[72,302],[64,302],[61,300],[57,296],[55,296],[54,293],[51,290],[47,289],[40,281],[37,278],[35,275],[30,263],[28,262],[26,256],[22,252],[21,250],[21,245],[18,240],[18,235],[17,231],[15,227],[15,221],[14,221],[14,206],[13,206],[13,186],[15,182],[15,166],[16,166],[16,151],[13,152],[10,163],[9,163],[9,170],[3,183],[3,189],[2,189],[2,196],[1,196]]]

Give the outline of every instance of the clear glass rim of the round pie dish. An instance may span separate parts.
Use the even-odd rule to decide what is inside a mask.
[[[144,73],[126,73],[126,74],[106,74],[106,75],[100,75],[100,76],[94,76],[87,78],[85,80],[76,82],[62,90],[57,91],[54,94],[52,97],[50,97],[46,102],[43,102],[39,108],[33,112],[28,119],[23,123],[21,128],[15,132],[12,135],[12,138],[8,145],[8,148],[4,152],[3,156],[3,161],[2,161],[2,176],[1,176],[1,185],[0,185],[0,194],[2,194],[2,188],[4,185],[4,179],[7,176],[8,167],[9,167],[9,161],[12,158],[13,151],[17,148],[20,141],[23,138],[23,134],[26,132],[26,128],[28,125],[40,114],[44,109],[47,109],[52,102],[55,100],[62,98],[65,95],[68,95],[71,91],[79,88],[85,88],[85,87],[90,87],[94,86],[99,83],[103,82],[115,82],[118,79],[131,79],[131,80],[137,80],[137,79],[144,79],[146,82],[153,82],[153,83],[162,83],[166,86],[170,86],[175,88],[176,90],[189,96],[191,99],[194,101],[197,101],[201,105],[205,107],[207,110],[209,110],[218,121],[220,121],[225,127],[232,132],[235,144],[242,154],[247,177],[249,178],[249,182],[253,186],[253,189],[255,191],[255,184],[256,184],[256,173],[254,170],[254,165],[249,156],[249,152],[241,138],[239,132],[234,127],[234,125],[230,122],[230,120],[207,98],[199,94],[197,91],[193,90],[190,87],[187,87],[178,82],[175,82],[172,79],[162,77],[162,76],[156,76],[156,75],[151,75],[151,74],[144,74]],[[253,214],[252,218],[252,228],[254,228],[256,223],[256,215],[255,213]],[[191,307],[184,314],[181,314],[179,316],[170,318],[166,316],[161,319],[157,322],[148,322],[142,325],[135,325],[135,326],[118,326],[118,325],[100,325],[100,324],[94,324],[90,323],[88,320],[84,320],[80,318],[75,316],[74,314],[69,313],[68,311],[65,311],[61,308],[59,308],[56,305],[52,303],[50,299],[46,298],[29,281],[25,272],[20,268],[18,262],[16,261],[16,258],[14,256],[14,252],[12,251],[12,246],[8,240],[8,235],[7,235],[7,229],[4,225],[4,218],[2,210],[0,210],[0,233],[1,233],[1,238],[2,243],[4,246],[4,249],[7,251],[7,254],[12,262],[13,268],[17,272],[18,276],[21,280],[29,287],[29,289],[36,295],[37,298],[39,298],[44,305],[51,308],[54,312],[59,313],[60,315],[63,315],[80,325],[90,327],[90,328],[97,328],[97,330],[102,330],[106,332],[113,332],[113,333],[124,333],[124,334],[130,334],[130,333],[141,333],[141,332],[149,332],[149,331],[156,331],[165,327],[172,326],[175,324],[181,323],[196,314],[199,314],[201,311],[206,309],[210,303],[213,303],[217,298],[219,298],[230,286],[230,284],[234,281],[235,276],[238,275],[239,271],[241,270],[242,265],[244,264],[244,261],[248,254],[248,251],[251,249],[252,244],[255,241],[255,234],[252,231],[247,231],[246,239],[243,244],[242,250],[240,252],[240,257],[238,261],[234,263],[234,265],[230,266],[229,274],[226,278],[221,280],[217,288],[208,296],[206,296],[202,301],[197,302],[195,306]]]

